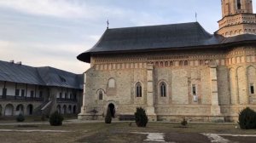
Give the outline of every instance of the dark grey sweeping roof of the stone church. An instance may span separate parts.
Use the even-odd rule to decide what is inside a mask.
[[[96,45],[79,54],[79,60],[90,62],[90,54],[125,52],[144,49],[172,49],[198,46],[220,45],[237,41],[256,40],[256,36],[246,34],[237,37],[222,37],[208,33],[198,22],[137,26],[107,29]]]

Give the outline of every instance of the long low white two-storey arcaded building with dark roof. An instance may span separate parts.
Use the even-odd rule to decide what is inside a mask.
[[[83,75],[14,61],[0,61],[0,67],[1,116],[80,112]]]

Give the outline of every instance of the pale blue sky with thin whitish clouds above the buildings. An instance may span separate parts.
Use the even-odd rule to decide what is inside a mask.
[[[255,5],[256,1],[253,1]],[[82,73],[76,56],[109,28],[195,21],[218,30],[220,0],[0,0],[0,60]]]

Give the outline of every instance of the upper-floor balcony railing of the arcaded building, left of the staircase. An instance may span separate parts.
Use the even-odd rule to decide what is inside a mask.
[[[40,98],[40,97],[25,97],[25,96],[12,96],[12,95],[0,95],[0,100],[44,101],[44,98]]]

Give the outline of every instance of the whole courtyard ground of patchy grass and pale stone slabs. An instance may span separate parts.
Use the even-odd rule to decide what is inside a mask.
[[[66,121],[62,126],[49,123],[1,123],[0,142],[3,143],[205,143],[239,142],[255,143],[256,130],[241,130],[236,123],[189,123],[183,128],[180,123],[148,123],[147,128],[137,128],[135,123],[78,122]]]

